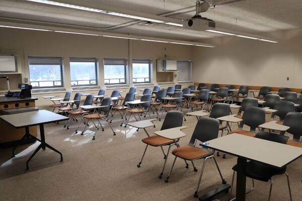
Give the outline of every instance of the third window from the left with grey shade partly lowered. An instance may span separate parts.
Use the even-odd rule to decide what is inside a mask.
[[[126,66],[125,59],[104,59],[105,84],[126,83]]]

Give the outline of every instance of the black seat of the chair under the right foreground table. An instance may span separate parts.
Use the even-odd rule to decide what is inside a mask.
[[[234,171],[237,171],[237,165],[235,165],[232,169]],[[279,169],[259,162],[247,162],[247,177],[260,181],[267,182],[272,176],[277,174],[284,174],[285,171],[286,167]]]

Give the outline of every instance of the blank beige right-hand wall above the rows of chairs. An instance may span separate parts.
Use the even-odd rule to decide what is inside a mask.
[[[302,88],[302,31],[268,35],[281,40],[268,43],[232,36],[207,41],[216,48],[194,48],[192,80]]]

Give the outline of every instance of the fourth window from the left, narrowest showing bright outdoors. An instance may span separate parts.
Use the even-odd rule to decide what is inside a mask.
[[[133,83],[150,82],[152,60],[134,59],[132,61]]]

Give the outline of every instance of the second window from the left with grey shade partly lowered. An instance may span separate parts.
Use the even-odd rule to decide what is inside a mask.
[[[97,85],[96,58],[70,58],[71,86]]]

